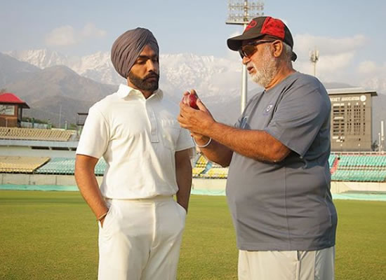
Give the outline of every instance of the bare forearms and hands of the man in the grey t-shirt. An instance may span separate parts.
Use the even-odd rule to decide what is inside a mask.
[[[201,146],[212,138],[213,143],[201,148],[209,160],[222,166],[229,165],[232,152],[259,161],[279,162],[291,152],[280,141],[261,130],[241,130],[217,123],[208,109],[197,101],[199,110],[180,104],[178,122],[181,127],[189,130]],[[205,142],[206,139],[206,142]],[[216,144],[217,142],[217,144]]]

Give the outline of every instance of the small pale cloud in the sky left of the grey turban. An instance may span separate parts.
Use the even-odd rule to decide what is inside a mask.
[[[67,46],[76,45],[88,39],[102,38],[107,32],[95,27],[93,23],[87,23],[81,30],[76,30],[70,25],[53,29],[46,35],[46,45]]]

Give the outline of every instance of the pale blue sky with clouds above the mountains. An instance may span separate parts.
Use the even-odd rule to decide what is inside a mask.
[[[311,72],[317,47],[322,80],[386,88],[386,1],[264,1],[265,15],[286,22],[295,39],[295,68]],[[0,51],[48,48],[64,55],[109,51],[119,34],[147,27],[161,53],[237,59],[226,39],[227,0],[4,1]]]

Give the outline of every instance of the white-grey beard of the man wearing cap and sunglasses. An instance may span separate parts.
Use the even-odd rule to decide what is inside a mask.
[[[251,62],[255,73],[251,74],[251,78],[255,83],[258,83],[262,87],[267,87],[273,80],[274,76],[277,75],[277,59],[270,54],[268,48],[264,49],[260,64],[260,69],[256,66],[255,62]]]

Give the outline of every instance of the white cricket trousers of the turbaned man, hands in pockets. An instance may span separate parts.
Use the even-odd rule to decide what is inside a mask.
[[[106,202],[98,280],[175,280],[185,209],[171,196]]]

